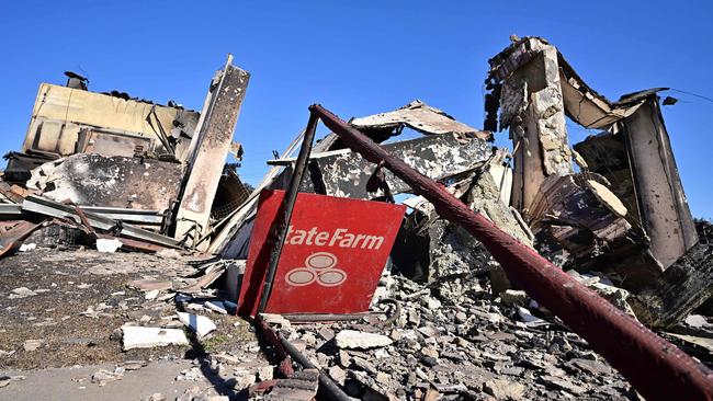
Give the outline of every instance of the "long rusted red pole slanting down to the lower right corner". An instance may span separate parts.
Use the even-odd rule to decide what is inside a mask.
[[[471,210],[442,185],[385,152],[331,112],[317,104],[309,110],[352,150],[373,163],[383,162],[415,193],[430,200],[440,216],[471,232],[512,282],[587,340],[647,400],[713,400],[713,373],[705,366]]]

